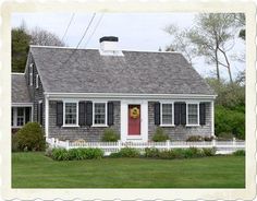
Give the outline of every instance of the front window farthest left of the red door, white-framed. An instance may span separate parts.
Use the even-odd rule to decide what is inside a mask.
[[[78,104],[77,102],[64,102],[63,107],[63,125],[64,127],[78,126]]]

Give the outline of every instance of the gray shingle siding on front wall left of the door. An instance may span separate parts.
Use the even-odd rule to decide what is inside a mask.
[[[114,102],[114,125],[109,127],[120,134],[121,117],[120,102]],[[78,140],[84,139],[87,142],[101,141],[103,135],[102,127],[58,127],[57,126],[57,102],[49,102],[49,138],[58,138],[59,140]]]

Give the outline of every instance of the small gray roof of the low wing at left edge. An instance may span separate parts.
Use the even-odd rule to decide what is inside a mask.
[[[30,103],[24,74],[12,74],[12,103]]]

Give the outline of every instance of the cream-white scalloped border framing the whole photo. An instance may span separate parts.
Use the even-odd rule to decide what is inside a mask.
[[[12,189],[11,14],[15,12],[244,12],[246,14],[246,168],[242,189]],[[256,198],[256,4],[248,1],[16,0],[1,4],[0,163],[4,200],[254,200]]]

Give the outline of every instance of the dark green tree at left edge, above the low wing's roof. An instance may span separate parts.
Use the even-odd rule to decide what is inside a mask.
[[[12,29],[12,72],[24,72],[30,36],[25,27]]]

